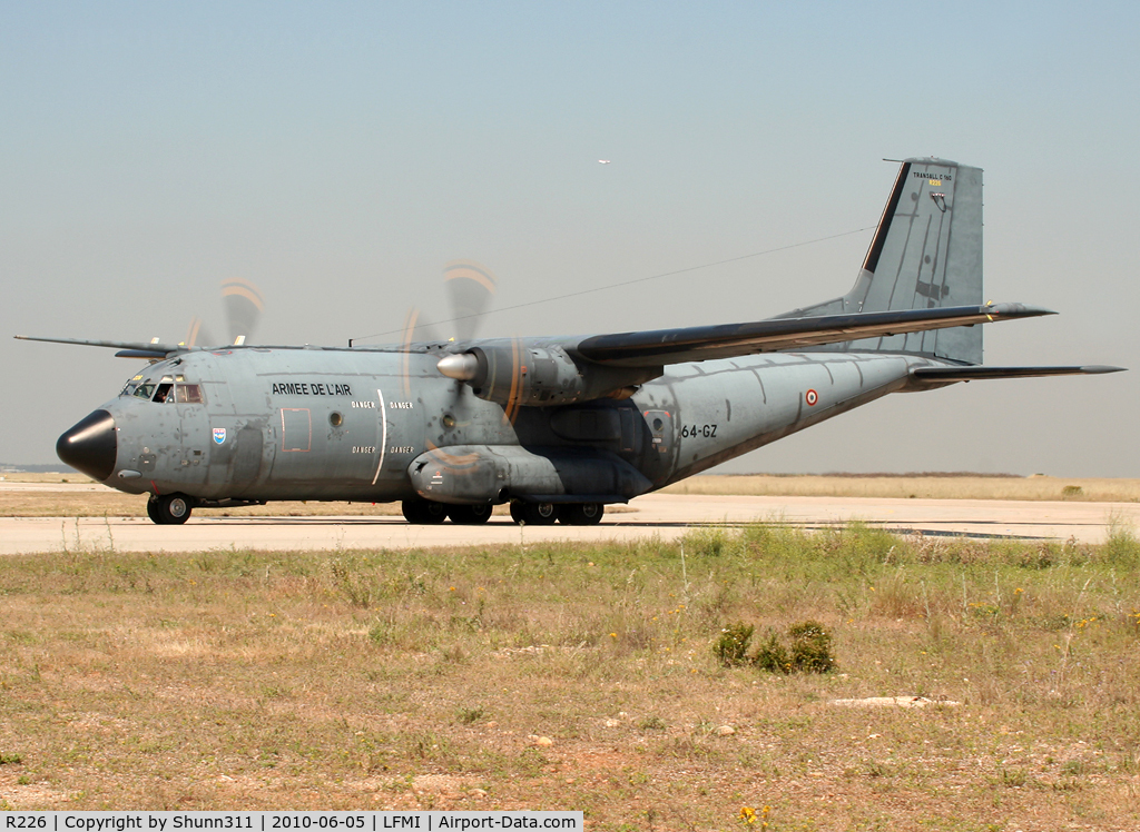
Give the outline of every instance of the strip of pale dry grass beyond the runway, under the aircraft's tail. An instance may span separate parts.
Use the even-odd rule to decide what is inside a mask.
[[[1140,480],[947,474],[692,476],[666,494],[760,497],[876,497],[920,499],[1086,500],[1138,503]]]

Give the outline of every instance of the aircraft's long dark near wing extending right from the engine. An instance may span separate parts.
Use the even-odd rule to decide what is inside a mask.
[[[1035,318],[1041,315],[1056,315],[1056,312],[1021,303],[987,303],[979,307],[899,309],[812,318],[769,318],[750,324],[594,335],[579,342],[573,351],[586,360],[598,364],[644,367],[798,350],[865,337],[946,329],[1015,318]]]

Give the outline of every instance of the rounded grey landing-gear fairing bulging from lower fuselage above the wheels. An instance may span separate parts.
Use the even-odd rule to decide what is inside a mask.
[[[458,444],[421,454],[408,466],[425,499],[453,505],[624,503],[653,484],[633,465],[594,449],[535,452],[520,446]]]

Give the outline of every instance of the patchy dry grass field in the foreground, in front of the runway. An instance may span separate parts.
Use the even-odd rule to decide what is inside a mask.
[[[771,806],[780,830],[1109,830],[1140,797],[1127,530],[19,556],[0,610],[2,808],[580,808],[597,830],[705,830]],[[837,672],[711,651],[736,621],[808,618]],[[828,704],[895,694],[963,704]]]

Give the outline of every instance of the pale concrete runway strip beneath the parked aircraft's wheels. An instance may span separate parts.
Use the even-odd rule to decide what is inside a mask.
[[[757,521],[823,528],[861,520],[923,535],[1102,543],[1112,524],[1140,524],[1135,503],[709,497],[646,495],[595,527],[410,525],[393,516],[222,517],[195,512],[185,525],[138,517],[0,517],[0,554],[44,552],[199,552],[217,548],[339,549],[532,544],[547,540],[671,539],[703,524]]]

